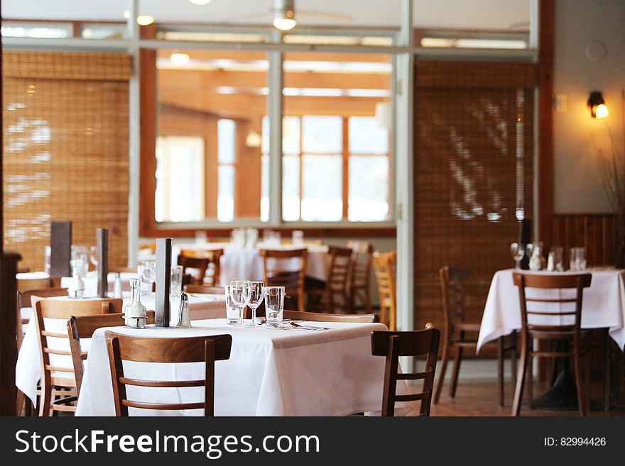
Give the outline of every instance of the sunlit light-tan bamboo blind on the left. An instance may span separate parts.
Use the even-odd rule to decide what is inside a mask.
[[[50,221],[70,220],[72,243],[109,228],[109,265],[126,265],[131,57],[6,51],[4,244],[43,270]]]

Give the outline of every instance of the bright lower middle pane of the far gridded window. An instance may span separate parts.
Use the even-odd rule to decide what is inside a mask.
[[[302,220],[341,220],[342,157],[304,155],[302,162]]]

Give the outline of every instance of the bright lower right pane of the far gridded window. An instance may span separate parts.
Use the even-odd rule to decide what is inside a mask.
[[[349,157],[349,221],[383,221],[388,218],[388,157]]]

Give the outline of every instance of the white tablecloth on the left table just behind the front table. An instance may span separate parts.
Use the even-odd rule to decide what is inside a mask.
[[[48,299],[68,299],[65,296],[59,296],[57,298]],[[86,298],[88,299],[88,298]],[[149,294],[141,296],[141,303],[146,308],[154,309],[155,294]],[[130,301],[130,293],[124,292],[124,305]],[[180,299],[171,299],[171,323],[174,324],[178,320],[178,309],[180,305]],[[224,296],[214,294],[193,294],[189,297],[189,309],[192,319],[205,319],[205,318],[222,318],[226,316],[226,307]],[[23,315],[26,315],[25,311],[30,311],[32,316],[32,309],[23,309]],[[49,331],[57,333],[67,332],[67,321],[62,319],[45,319],[45,328]],[[70,350],[69,340],[60,338],[48,338],[48,345],[51,348],[57,348],[62,350]],[[83,350],[88,351],[90,345],[89,338],[83,338],[80,340],[80,345]],[[26,328],[26,334],[18,353],[18,359],[15,370],[16,386],[22,392],[28,396],[33,403],[36,402],[37,384],[41,378],[41,362],[39,356],[39,338],[37,335],[36,325],[28,325]],[[72,359],[70,356],[50,355],[50,362],[58,367],[73,367]],[[60,377],[67,377],[67,374],[59,374]],[[73,375],[70,375],[73,377]]]

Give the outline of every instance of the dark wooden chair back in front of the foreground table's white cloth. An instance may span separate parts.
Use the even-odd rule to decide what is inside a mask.
[[[204,409],[205,416],[214,415],[214,363],[230,357],[232,336],[211,335],[192,338],[141,338],[104,333],[107,338],[113,382],[116,416],[128,416],[129,408],[141,409]],[[205,377],[200,380],[156,381],[124,376],[122,361],[136,362],[205,362]],[[205,387],[204,401],[197,403],[146,403],[129,400],[126,384],[138,387]]]

